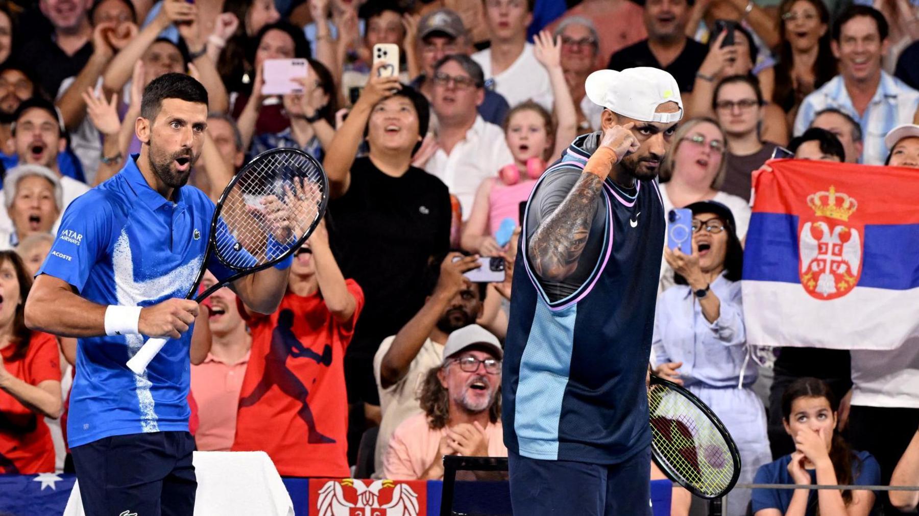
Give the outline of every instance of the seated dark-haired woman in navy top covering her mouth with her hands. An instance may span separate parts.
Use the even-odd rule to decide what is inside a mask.
[[[795,452],[760,467],[756,484],[871,486],[880,466],[868,452],[855,452],[836,431],[839,402],[822,380],[800,378],[782,395],[782,421]],[[865,489],[754,489],[755,516],[867,516],[874,492]]]

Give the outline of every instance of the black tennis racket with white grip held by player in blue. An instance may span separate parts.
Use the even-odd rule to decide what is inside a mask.
[[[287,258],[323,219],[328,191],[322,165],[303,151],[280,148],[255,156],[217,201],[204,261],[186,298],[201,302],[222,286]],[[234,274],[196,297],[211,255]],[[167,341],[144,342],[128,361],[130,370],[142,375]]]

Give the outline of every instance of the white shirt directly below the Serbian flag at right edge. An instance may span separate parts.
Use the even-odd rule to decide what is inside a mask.
[[[892,350],[852,350],[852,404],[919,409],[919,338]]]

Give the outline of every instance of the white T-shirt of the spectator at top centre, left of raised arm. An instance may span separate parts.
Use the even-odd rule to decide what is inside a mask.
[[[494,81],[494,91],[504,95],[507,104],[517,104],[532,98],[539,105],[552,112],[552,84],[549,73],[536,60],[532,43],[527,43],[523,51],[502,73],[492,73],[492,50],[479,50],[472,54],[472,61],[478,62],[485,74],[485,82]]]

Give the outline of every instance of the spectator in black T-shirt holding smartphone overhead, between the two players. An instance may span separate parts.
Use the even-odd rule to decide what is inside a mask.
[[[373,355],[424,304],[426,268],[448,252],[450,235],[447,186],[412,166],[427,132],[427,99],[397,77],[380,77],[382,64],[374,63],[323,161],[335,258],[367,298],[345,359],[348,402],[356,409],[349,425],[355,456],[365,413],[379,418]],[[355,158],[365,139],[369,155]]]

